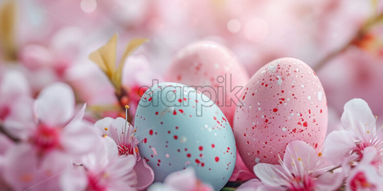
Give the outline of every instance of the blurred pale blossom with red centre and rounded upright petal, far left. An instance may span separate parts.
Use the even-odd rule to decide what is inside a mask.
[[[91,126],[82,121],[86,105],[74,116],[75,100],[72,89],[64,83],[44,88],[33,104],[25,123],[12,118],[5,128],[15,138],[29,142],[40,154],[57,150],[70,155],[90,152],[97,138]],[[32,108],[25,105],[24,110]],[[20,108],[21,109],[21,108]],[[23,111],[23,110],[22,110]],[[34,116],[34,117],[32,117]]]

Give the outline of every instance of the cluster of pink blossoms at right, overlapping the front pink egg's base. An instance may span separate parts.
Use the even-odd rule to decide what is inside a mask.
[[[238,190],[382,190],[383,136],[376,128],[376,117],[361,99],[346,103],[342,131],[331,132],[323,153],[305,142],[287,145],[280,164],[254,166],[258,179],[251,179]]]

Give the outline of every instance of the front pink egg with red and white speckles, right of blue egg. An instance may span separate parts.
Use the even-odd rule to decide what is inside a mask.
[[[241,102],[233,128],[249,169],[260,162],[278,163],[292,140],[320,151],[327,130],[326,96],[306,63],[294,58],[271,61],[251,77]]]

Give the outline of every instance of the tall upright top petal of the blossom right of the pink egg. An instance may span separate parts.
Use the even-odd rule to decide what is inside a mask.
[[[355,139],[368,140],[376,131],[376,119],[368,104],[362,99],[352,99],[344,106],[342,126]]]

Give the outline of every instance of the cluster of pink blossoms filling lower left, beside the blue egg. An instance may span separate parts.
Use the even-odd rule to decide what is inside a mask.
[[[1,79],[1,190],[143,190],[154,180],[134,128],[121,117],[83,120],[65,83],[32,99],[23,75]]]

